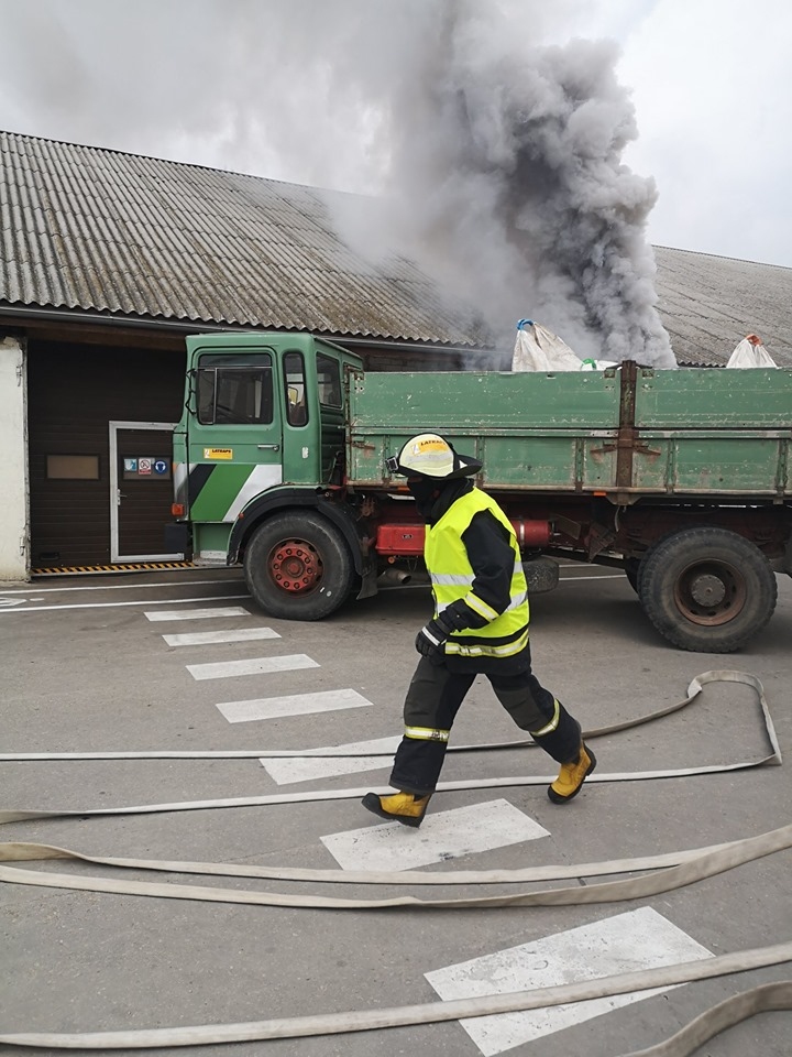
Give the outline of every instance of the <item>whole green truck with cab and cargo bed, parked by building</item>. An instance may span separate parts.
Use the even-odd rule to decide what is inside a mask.
[[[166,546],[241,563],[272,617],[319,620],[420,567],[385,458],[422,432],[483,461],[532,590],[559,557],[617,566],[681,649],[739,649],[792,575],[792,371],[373,372],[305,334],[187,353]]]

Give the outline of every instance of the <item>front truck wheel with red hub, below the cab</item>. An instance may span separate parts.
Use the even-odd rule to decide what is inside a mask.
[[[276,514],[245,549],[248,590],[270,617],[321,620],[349,597],[352,555],[338,528],[314,512]]]

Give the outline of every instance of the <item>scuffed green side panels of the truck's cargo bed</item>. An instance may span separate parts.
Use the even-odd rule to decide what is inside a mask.
[[[352,379],[352,483],[386,483],[421,432],[482,459],[494,491],[792,498],[792,371],[638,369],[625,393],[620,370]]]

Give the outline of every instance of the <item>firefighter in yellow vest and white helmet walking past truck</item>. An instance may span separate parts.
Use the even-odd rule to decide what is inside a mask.
[[[504,512],[471,480],[482,464],[424,433],[386,465],[407,478],[427,523],[424,556],[435,617],[416,636],[421,657],[407,690],[405,731],[389,781],[398,792],[367,793],[363,806],[381,818],[420,826],[454,718],[479,674],[490,679],[515,723],[561,765],[548,796],[553,804],[569,803],[596,760],[580,723],[531,672],[520,553]]]

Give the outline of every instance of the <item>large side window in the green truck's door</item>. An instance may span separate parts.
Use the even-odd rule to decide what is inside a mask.
[[[268,352],[207,355],[198,360],[198,422],[266,425],[273,421]]]

